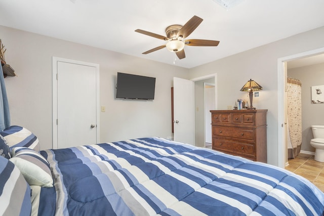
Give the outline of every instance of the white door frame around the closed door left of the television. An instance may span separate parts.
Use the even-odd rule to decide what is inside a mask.
[[[79,64],[85,66],[91,66],[96,68],[96,140],[97,143],[100,142],[100,98],[99,98],[99,64],[83,62],[83,61],[76,61],[71,59],[59,58],[59,57],[52,57],[52,93],[53,93],[53,101],[52,101],[52,140],[53,140],[53,149],[58,148],[57,143],[57,62],[66,62],[71,64]]]

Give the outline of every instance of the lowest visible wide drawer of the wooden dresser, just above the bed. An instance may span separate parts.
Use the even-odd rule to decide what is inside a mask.
[[[235,152],[236,155],[240,155],[240,153],[255,154],[255,147],[254,144],[247,144],[247,143],[238,143],[228,140],[221,140],[221,139],[213,139],[213,149],[220,150],[220,151],[230,151]]]

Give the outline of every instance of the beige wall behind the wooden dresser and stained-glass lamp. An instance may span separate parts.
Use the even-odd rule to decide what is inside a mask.
[[[268,109],[267,155],[268,163],[278,164],[278,59],[324,47],[324,27],[297,34],[270,44],[238,53],[190,69],[190,78],[217,73],[218,109],[226,109],[238,98],[248,99],[240,88],[250,79],[263,90],[253,105]],[[237,36],[239,39],[239,36]],[[221,42],[219,46],[221,46]]]

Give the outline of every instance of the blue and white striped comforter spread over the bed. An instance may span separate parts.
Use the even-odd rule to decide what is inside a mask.
[[[292,172],[161,138],[42,154],[55,189],[42,188],[39,215],[321,215],[324,210],[324,194]]]

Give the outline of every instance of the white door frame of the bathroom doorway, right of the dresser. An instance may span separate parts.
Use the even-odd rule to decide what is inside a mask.
[[[324,48],[319,48],[315,50],[310,50],[303,53],[297,53],[291,56],[286,56],[282,58],[278,58],[278,166],[281,168],[285,168],[286,165],[286,133],[285,133],[285,100],[286,100],[286,92],[285,92],[285,83],[287,79],[287,74],[285,73],[285,62],[301,59],[309,56],[314,56],[318,54],[324,53]]]

